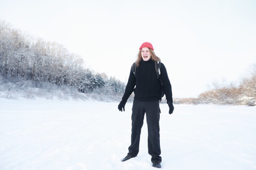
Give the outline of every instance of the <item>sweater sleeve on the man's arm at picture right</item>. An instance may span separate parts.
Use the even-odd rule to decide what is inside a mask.
[[[163,83],[163,89],[164,89],[164,94],[166,95],[166,100],[167,102],[173,103],[171,83],[170,83],[168,74],[166,72],[166,67],[164,66],[163,63],[161,63],[160,71],[161,71],[160,79]]]

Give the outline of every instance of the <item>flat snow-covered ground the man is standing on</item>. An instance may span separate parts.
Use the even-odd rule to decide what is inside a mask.
[[[156,169],[146,122],[138,157],[130,144],[132,103],[0,98],[0,169]],[[161,104],[162,169],[256,169],[256,107]]]

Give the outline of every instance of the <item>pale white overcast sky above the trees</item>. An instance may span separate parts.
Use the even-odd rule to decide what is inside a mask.
[[[127,82],[142,42],[165,64],[174,97],[238,82],[256,64],[254,0],[0,0],[0,20],[55,41]]]

